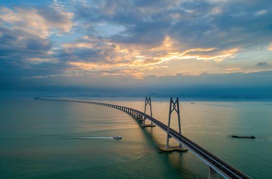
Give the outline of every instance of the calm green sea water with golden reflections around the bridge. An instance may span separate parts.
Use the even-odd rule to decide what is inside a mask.
[[[143,98],[73,99],[144,107]],[[182,134],[252,178],[272,178],[271,101],[180,102]],[[165,124],[168,107],[168,98],[152,98],[153,117]],[[189,151],[160,151],[166,134],[158,127],[140,128],[114,108],[2,97],[0,114],[0,178],[208,177],[208,167]],[[177,129],[176,118],[171,127]],[[122,139],[88,138],[116,135]]]

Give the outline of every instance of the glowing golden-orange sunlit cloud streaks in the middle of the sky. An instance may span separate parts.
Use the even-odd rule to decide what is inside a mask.
[[[179,51],[174,44],[175,42],[170,37],[166,37],[161,45],[151,48],[144,45],[116,44],[107,39],[101,41],[100,39],[85,38],[84,42],[63,44],[62,46],[71,50],[75,48],[99,49],[99,55],[102,58],[95,63],[88,62],[88,57],[81,59],[80,62],[68,62],[72,66],[69,68],[70,71],[77,69],[89,72],[108,70],[112,73],[100,73],[100,75],[127,74],[136,77],[143,76],[148,70],[165,68],[165,64],[172,61],[197,59],[221,62],[226,58],[234,57],[235,52],[238,51],[238,48],[228,50],[192,48]]]

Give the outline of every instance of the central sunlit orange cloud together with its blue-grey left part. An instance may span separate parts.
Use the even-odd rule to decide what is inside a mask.
[[[85,74],[97,70],[112,70],[117,73],[100,75],[131,75],[142,78],[148,70],[164,68],[168,63],[181,59],[197,59],[220,62],[234,56],[237,49],[220,51],[216,48],[195,48],[176,51],[175,42],[166,37],[161,44],[137,45],[117,43],[111,38],[83,37],[72,43],[61,44],[55,58],[65,61],[66,71],[82,70]],[[72,68],[70,68],[72,66]],[[79,75],[79,73],[77,73]],[[97,74],[99,75],[99,74]]]

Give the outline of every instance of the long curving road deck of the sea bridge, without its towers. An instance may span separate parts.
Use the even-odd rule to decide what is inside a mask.
[[[144,115],[143,112],[138,111],[136,109],[128,108],[125,106],[118,106],[113,104],[107,104],[107,103],[100,103],[100,102],[92,102],[92,101],[81,101],[81,100],[65,100],[65,99],[43,99],[43,98],[34,98],[38,100],[50,100],[50,101],[66,101],[66,102],[79,102],[79,103],[90,103],[90,104],[97,104],[97,105],[104,105],[109,106],[113,108],[120,109],[122,111],[128,112],[130,115],[133,115],[132,113],[139,114],[141,116]],[[152,118],[149,115],[145,115],[146,119],[150,120],[154,124],[156,124],[158,127],[160,127],[163,131],[167,132],[167,126],[163,124],[162,122],[158,121],[155,118]],[[205,150],[203,147],[199,146],[192,140],[188,139],[182,134],[179,134],[177,131],[170,129],[170,136],[181,142],[183,145],[185,145],[193,154],[195,154],[198,158],[200,158],[203,162],[205,162],[207,165],[212,167],[215,171],[217,171],[219,174],[221,174],[224,178],[228,179],[250,179],[247,175],[243,174],[239,170],[235,169],[231,165],[227,164],[220,158],[216,157],[209,151]]]

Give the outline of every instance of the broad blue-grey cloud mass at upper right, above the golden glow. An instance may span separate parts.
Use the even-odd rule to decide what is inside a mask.
[[[77,3],[75,16],[85,23],[107,22],[125,27],[122,33],[111,37],[111,41],[117,44],[152,49],[169,38],[175,40],[174,52],[216,48],[219,54],[212,58],[222,61],[235,56],[239,50],[265,44],[271,39],[270,6],[268,1],[246,3],[243,0],[169,0],[156,3],[104,0],[95,5]],[[255,16],[256,13],[259,15]],[[235,51],[226,53],[233,49]],[[164,50],[173,52],[167,48]],[[207,60],[201,56],[196,58]]]

